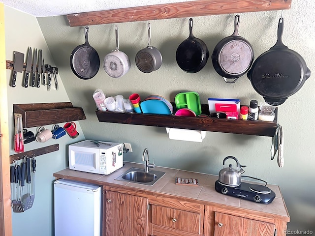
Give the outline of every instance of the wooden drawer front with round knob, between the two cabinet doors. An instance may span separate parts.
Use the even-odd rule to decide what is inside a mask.
[[[185,210],[151,205],[151,223],[181,232],[200,234],[201,214]]]

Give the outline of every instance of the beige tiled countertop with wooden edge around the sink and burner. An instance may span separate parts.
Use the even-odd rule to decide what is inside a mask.
[[[144,168],[143,164],[124,162],[124,167],[113,172],[110,175],[99,175],[86,173],[81,171],[70,170],[69,168],[62,171],[54,173],[54,177],[57,178],[67,178],[67,177],[78,177],[85,178],[89,180],[95,180],[97,183],[112,183],[118,185],[124,185],[128,187],[145,189],[149,191],[155,191],[159,193],[165,193],[169,195],[182,196],[186,198],[196,199],[205,202],[217,203],[226,206],[240,207],[245,209],[256,210],[260,212],[266,212],[271,214],[280,215],[287,217],[289,219],[289,214],[286,209],[280,188],[278,185],[268,184],[267,187],[272,189],[276,193],[276,198],[270,204],[258,204],[244,199],[239,199],[231,196],[226,196],[221,193],[218,193],[215,190],[215,181],[218,180],[216,175],[208,175],[190,171],[183,171],[172,168],[158,167],[156,166],[154,170],[163,171],[165,175],[161,177],[154,185],[148,186],[128,181],[115,180],[115,178],[122,175],[128,169],[135,168]],[[184,186],[175,184],[176,177],[185,177],[185,178],[197,178],[199,185],[197,186]],[[250,182],[250,181],[247,181]],[[104,184],[105,185],[105,184]]]

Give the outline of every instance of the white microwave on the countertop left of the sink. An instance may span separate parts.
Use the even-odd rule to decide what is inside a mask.
[[[123,167],[124,144],[85,140],[68,147],[69,169],[109,175]]]

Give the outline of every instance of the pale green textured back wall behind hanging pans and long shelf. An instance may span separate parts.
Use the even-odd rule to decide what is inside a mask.
[[[198,73],[183,72],[176,63],[178,45],[188,37],[188,19],[151,21],[152,46],[163,56],[163,64],[150,74],[139,71],[134,59],[147,45],[147,22],[119,24],[120,50],[131,60],[130,71],[122,78],[109,77],[102,68],[91,80],[77,78],[70,69],[72,50],[84,43],[84,27],[69,27],[66,17],[38,18],[52,57],[59,68],[70,101],[80,104],[87,120],[80,121],[87,139],[131,143],[133,152],[126,161],[141,162],[142,151],[148,148],[150,158],[159,166],[218,174],[225,156],[233,155],[247,165],[246,175],[279,184],[291,216],[289,229],[315,232],[314,185],[314,73],[315,73],[315,3],[312,0],[292,0],[292,8],[283,12],[283,41],[306,60],[312,71],[305,86],[279,107],[278,121],[284,127],[284,168],[270,160],[271,138],[207,132],[203,143],[169,140],[164,128],[100,123],[95,115],[92,93],[100,88],[108,96],[137,92],[142,98],[158,94],[174,101],[178,92],[196,91],[202,103],[208,97],[239,98],[242,104],[262,98],[254,91],[246,76],[235,84],[225,84],[215,72],[211,60]],[[239,33],[248,39],[255,58],[272,47],[277,40],[281,11],[242,13]],[[193,18],[193,33],[208,46],[210,54],[216,44],[233,33],[234,15]],[[114,24],[90,27],[90,44],[102,60],[115,49]]]

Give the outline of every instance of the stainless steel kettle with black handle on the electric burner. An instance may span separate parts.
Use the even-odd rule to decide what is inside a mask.
[[[240,170],[236,170],[232,168],[232,164],[229,164],[228,168],[221,169],[219,172],[219,182],[223,185],[231,186],[231,187],[237,187],[241,185],[242,181],[242,174],[245,172],[241,164],[239,164],[239,161],[234,156],[227,156],[223,160],[223,165],[225,164],[225,161],[227,159],[234,159],[236,161],[236,167],[239,167]]]

